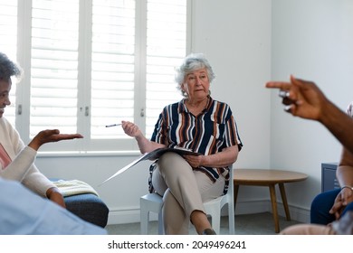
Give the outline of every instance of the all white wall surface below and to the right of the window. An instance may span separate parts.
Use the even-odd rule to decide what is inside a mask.
[[[291,211],[304,213],[320,192],[320,164],[339,159],[339,144],[316,122],[283,113],[267,80],[291,73],[315,80],[339,107],[351,99],[353,23],[349,0],[195,0],[193,52],[214,67],[212,96],[234,111],[243,140],[236,168],[273,168],[308,173],[286,185]],[[349,33],[350,32],[350,33]],[[98,186],[138,154],[41,157],[50,177],[91,183],[110,208],[110,223],[139,220],[139,197],[148,190],[148,162]],[[268,190],[241,187],[236,213],[269,211]],[[281,213],[281,210],[280,210]]]

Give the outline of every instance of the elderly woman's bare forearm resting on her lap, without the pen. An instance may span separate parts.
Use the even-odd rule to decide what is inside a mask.
[[[224,148],[222,152],[214,155],[205,155],[201,165],[217,168],[234,164],[238,157],[238,152],[237,145]]]

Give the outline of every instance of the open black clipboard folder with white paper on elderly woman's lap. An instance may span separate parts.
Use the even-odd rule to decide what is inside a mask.
[[[114,173],[112,176],[110,176],[108,179],[106,179],[103,183],[107,183],[108,181],[110,181],[110,179],[116,177],[120,173],[123,173],[123,172],[129,170],[129,168],[131,168],[135,164],[138,164],[141,161],[144,161],[144,160],[156,160],[160,155],[163,155],[163,154],[165,154],[167,152],[175,152],[175,153],[177,153],[179,155],[201,155],[200,153],[196,153],[196,152],[193,152],[193,151],[188,150],[186,148],[177,147],[177,146],[176,147],[157,148],[156,150],[154,150],[154,151],[152,151],[150,153],[146,153],[145,155],[142,155],[138,159],[132,161],[130,164],[124,166],[117,173]],[[100,183],[100,185],[102,185],[103,183]]]

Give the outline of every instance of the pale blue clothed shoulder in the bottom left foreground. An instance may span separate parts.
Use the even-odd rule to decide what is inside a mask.
[[[0,178],[0,234],[105,235],[107,231],[81,220],[21,183]]]

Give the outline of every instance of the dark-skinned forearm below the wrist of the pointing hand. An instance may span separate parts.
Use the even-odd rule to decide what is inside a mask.
[[[326,126],[339,142],[353,153],[353,118],[329,102],[324,110],[324,115],[319,121]]]

